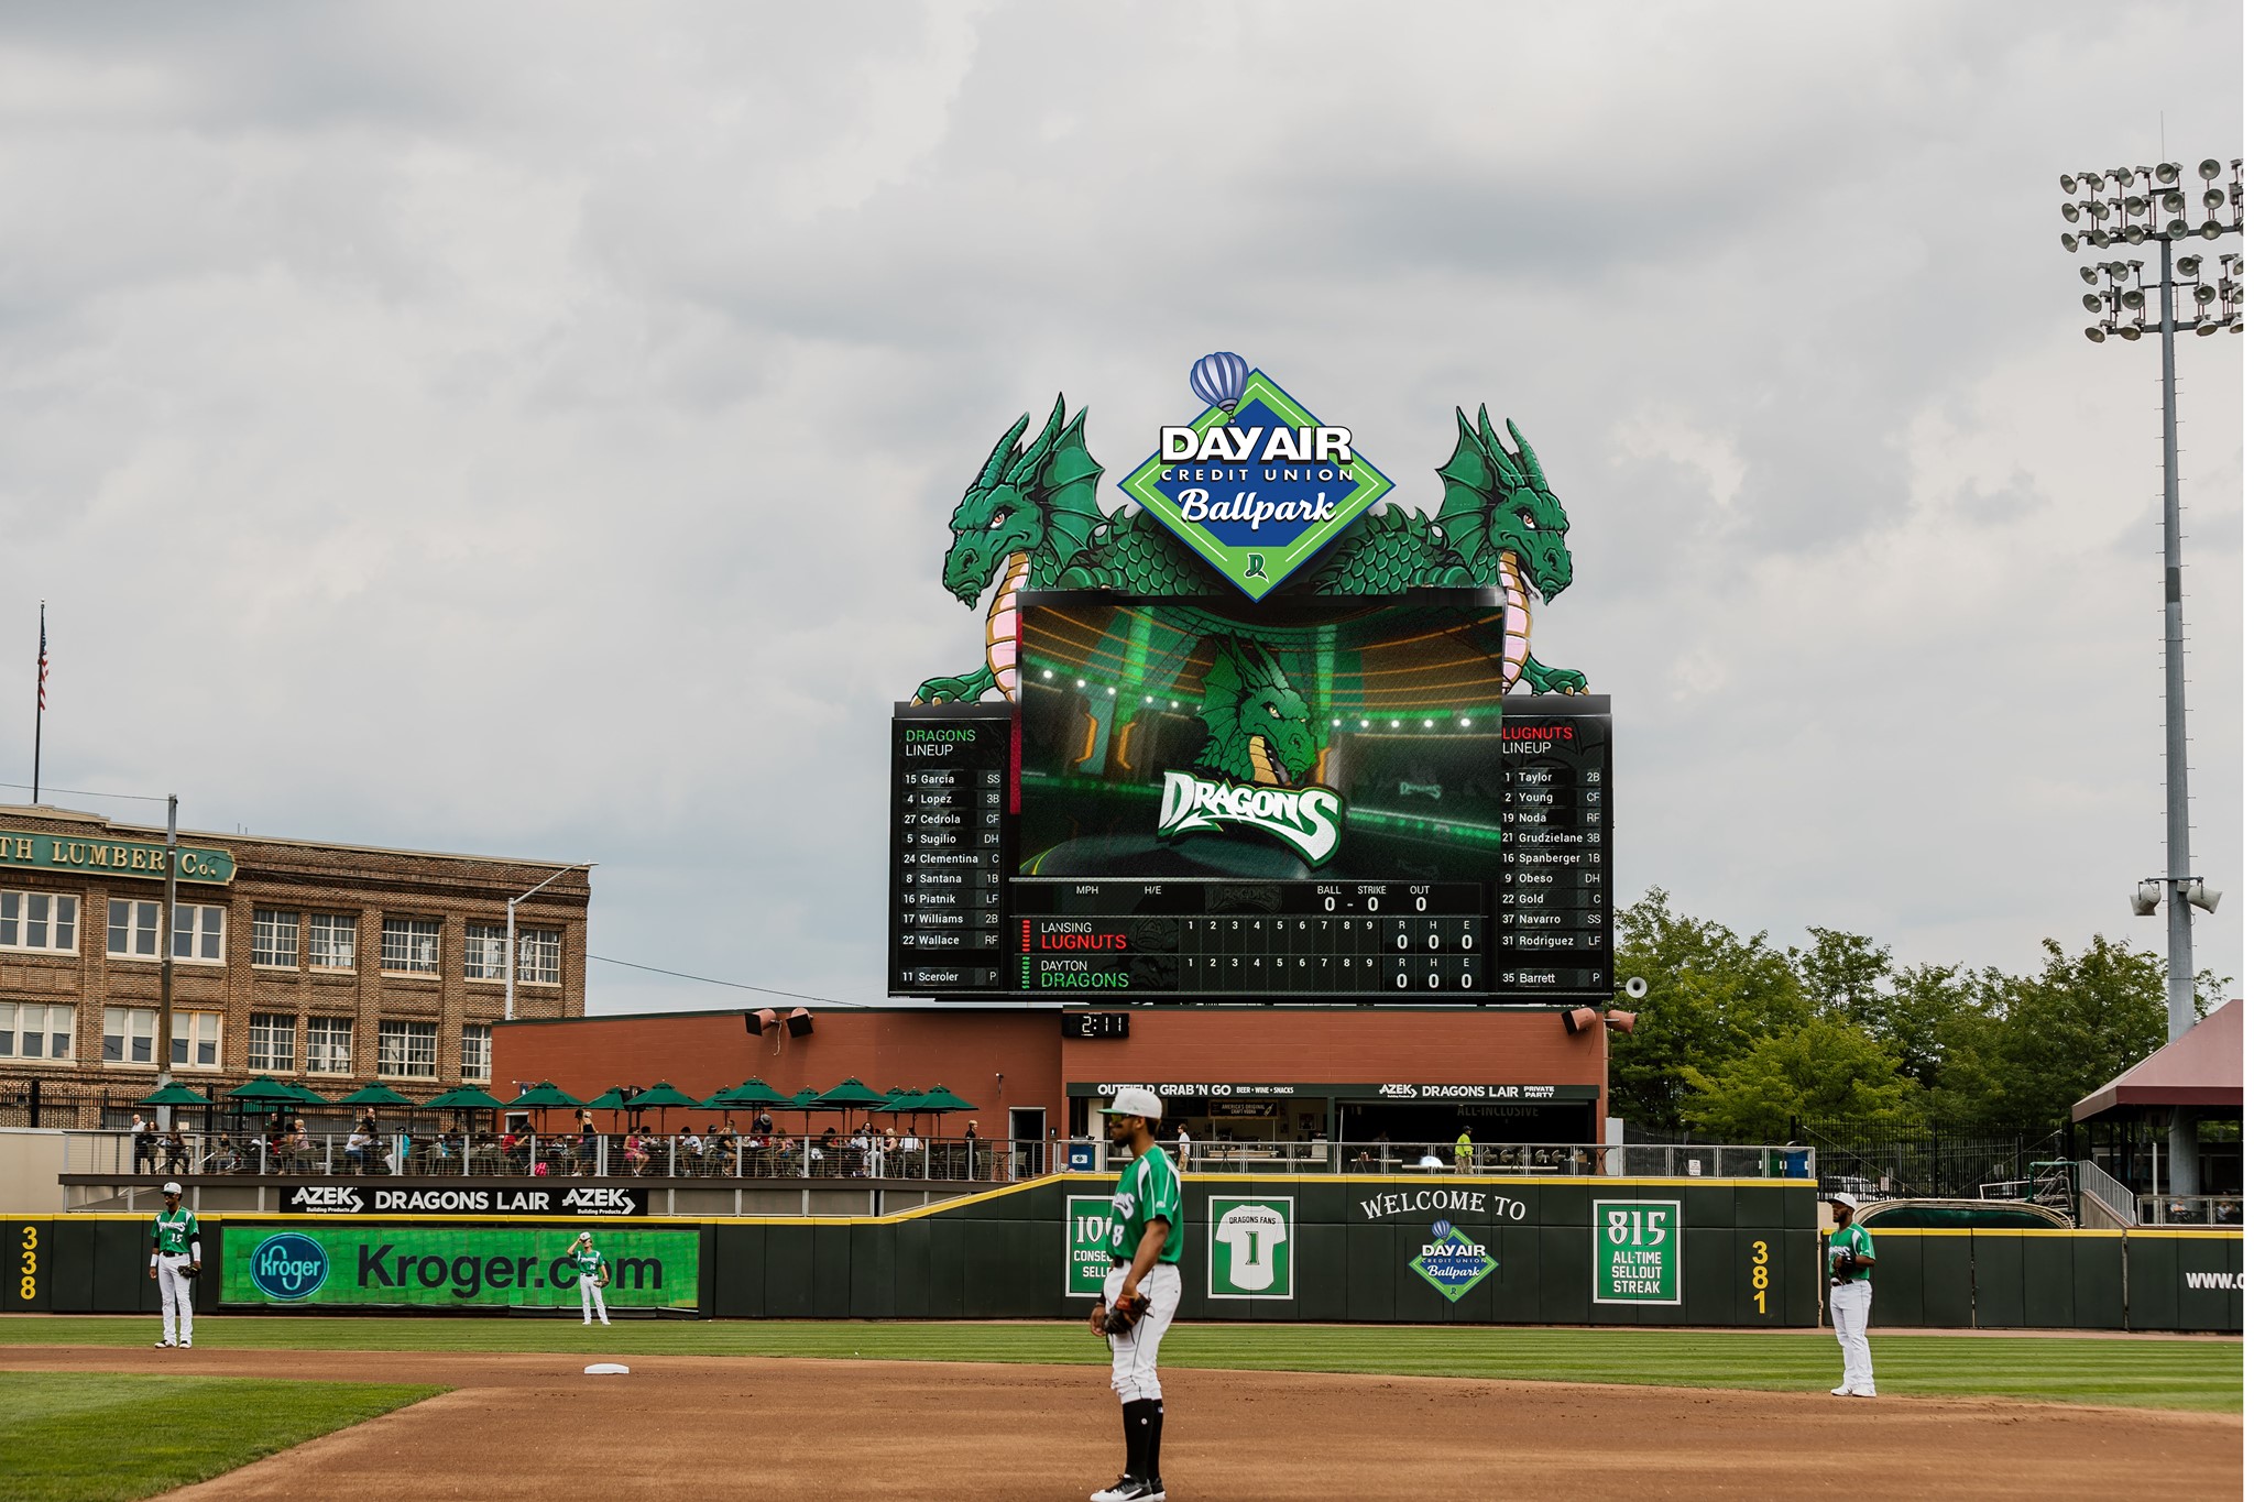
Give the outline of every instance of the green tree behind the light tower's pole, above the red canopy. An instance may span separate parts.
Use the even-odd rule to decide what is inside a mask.
[[[2168,1040],[2166,964],[2092,935],[2042,941],[2035,975],[1981,971],[1975,1002],[1941,1025],[1936,1115],[1965,1135],[2042,1133],[2074,1101]]]

